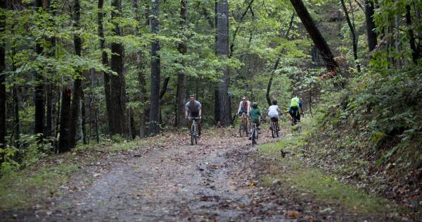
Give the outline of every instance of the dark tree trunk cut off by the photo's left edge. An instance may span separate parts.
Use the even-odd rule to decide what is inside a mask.
[[[6,10],[6,0],[0,0],[0,8]],[[0,17],[0,35],[6,26],[6,16]],[[0,44],[0,73],[6,68],[6,54],[4,44]],[[6,75],[0,75],[0,148],[6,147]],[[0,156],[0,164],[3,161]]]

